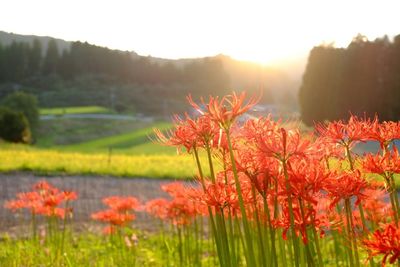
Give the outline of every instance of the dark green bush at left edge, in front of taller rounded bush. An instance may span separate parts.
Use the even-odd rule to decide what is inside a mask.
[[[14,143],[30,143],[31,131],[24,114],[0,107],[0,138]]]

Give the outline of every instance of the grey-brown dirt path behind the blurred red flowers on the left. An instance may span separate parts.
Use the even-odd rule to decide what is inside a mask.
[[[115,178],[115,177],[39,177],[28,173],[0,174],[0,228],[7,229],[26,223],[27,216],[13,214],[4,208],[7,200],[15,198],[19,192],[30,191],[34,183],[46,180],[62,190],[78,193],[78,200],[73,204],[74,221],[87,222],[90,214],[104,209],[101,199],[106,196],[134,196],[145,202],[149,199],[166,196],[160,185],[171,180]],[[138,214],[138,223],[144,223],[146,216]]]

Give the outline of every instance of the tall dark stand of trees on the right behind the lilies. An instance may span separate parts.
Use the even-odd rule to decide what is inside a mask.
[[[299,91],[306,124],[351,114],[400,119],[400,35],[368,41],[358,35],[347,48],[314,47]]]

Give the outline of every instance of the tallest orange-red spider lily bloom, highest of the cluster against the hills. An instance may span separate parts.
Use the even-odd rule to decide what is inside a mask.
[[[230,129],[238,116],[247,112],[252,106],[254,106],[258,102],[258,99],[252,98],[246,104],[244,104],[245,98],[245,92],[242,92],[240,95],[236,95],[236,93],[233,93],[232,95],[222,97],[221,100],[219,100],[218,96],[210,96],[209,102],[207,104],[205,104],[204,100],[202,99],[202,102],[203,104],[205,104],[207,109],[206,111],[203,111],[199,107],[199,105],[197,105],[193,101],[190,95],[187,97],[189,103],[192,105],[193,108],[199,111],[200,114],[209,116],[224,130]]]

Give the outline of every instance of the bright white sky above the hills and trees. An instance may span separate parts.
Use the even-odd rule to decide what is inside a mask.
[[[394,0],[3,0],[0,30],[163,58],[225,54],[263,64],[400,34]]]

